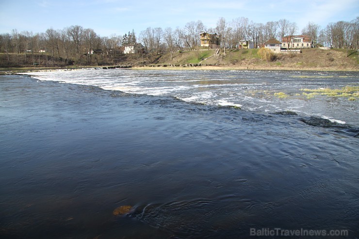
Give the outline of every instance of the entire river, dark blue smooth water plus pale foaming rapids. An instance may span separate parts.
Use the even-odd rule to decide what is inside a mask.
[[[0,76],[0,238],[359,237],[358,100],[302,94],[358,76]]]

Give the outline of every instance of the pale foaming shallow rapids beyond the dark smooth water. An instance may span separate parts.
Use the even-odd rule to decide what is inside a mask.
[[[294,111],[357,124],[358,101],[303,95],[303,89],[359,86],[358,72],[315,71],[133,71],[123,69],[36,72],[39,80],[95,85],[106,90],[174,96],[188,102],[237,106],[245,111]],[[278,98],[283,92],[288,97]]]

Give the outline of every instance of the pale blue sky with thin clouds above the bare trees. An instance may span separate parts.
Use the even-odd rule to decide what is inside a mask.
[[[300,34],[308,22],[325,28],[356,19],[359,0],[0,0],[0,34],[80,25],[100,36],[132,29],[138,35],[148,27],[176,29],[198,20],[215,28],[220,17],[230,22],[242,16],[263,24],[287,19]]]

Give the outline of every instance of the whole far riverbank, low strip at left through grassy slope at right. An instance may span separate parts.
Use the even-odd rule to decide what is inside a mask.
[[[142,70],[305,70],[305,71],[359,71],[358,52],[345,49],[302,49],[300,54],[277,54],[271,61],[260,58],[258,49],[223,50],[218,54],[214,50],[191,50],[176,53],[163,53],[153,56],[148,54],[142,59],[125,54],[123,60],[107,64],[52,66],[28,65],[26,67],[9,67],[2,61],[2,72],[27,72],[47,69],[81,69],[81,68],[132,68]],[[0,61],[1,63],[1,61]],[[1,67],[2,66],[2,67]]]

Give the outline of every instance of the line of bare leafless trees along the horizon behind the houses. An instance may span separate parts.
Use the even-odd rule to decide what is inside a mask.
[[[114,50],[137,42],[141,43],[149,53],[197,48],[200,44],[199,33],[201,32],[221,35],[223,48],[238,48],[243,40],[253,41],[257,48],[270,38],[277,38],[281,41],[286,35],[299,33],[309,35],[319,46],[358,49],[359,17],[350,22],[329,23],[323,29],[318,24],[309,22],[301,31],[295,22],[287,19],[263,24],[250,21],[246,17],[238,17],[231,21],[220,17],[215,28],[207,28],[200,20],[188,22],[184,27],[176,29],[148,27],[141,31],[138,37],[133,30],[125,35],[112,34],[101,37],[93,29],[85,29],[78,25],[66,27],[63,30],[50,28],[43,33],[13,30],[0,34],[0,52],[6,54],[46,52],[68,63],[70,60],[81,57],[89,60],[91,56],[87,53],[92,49]]]

